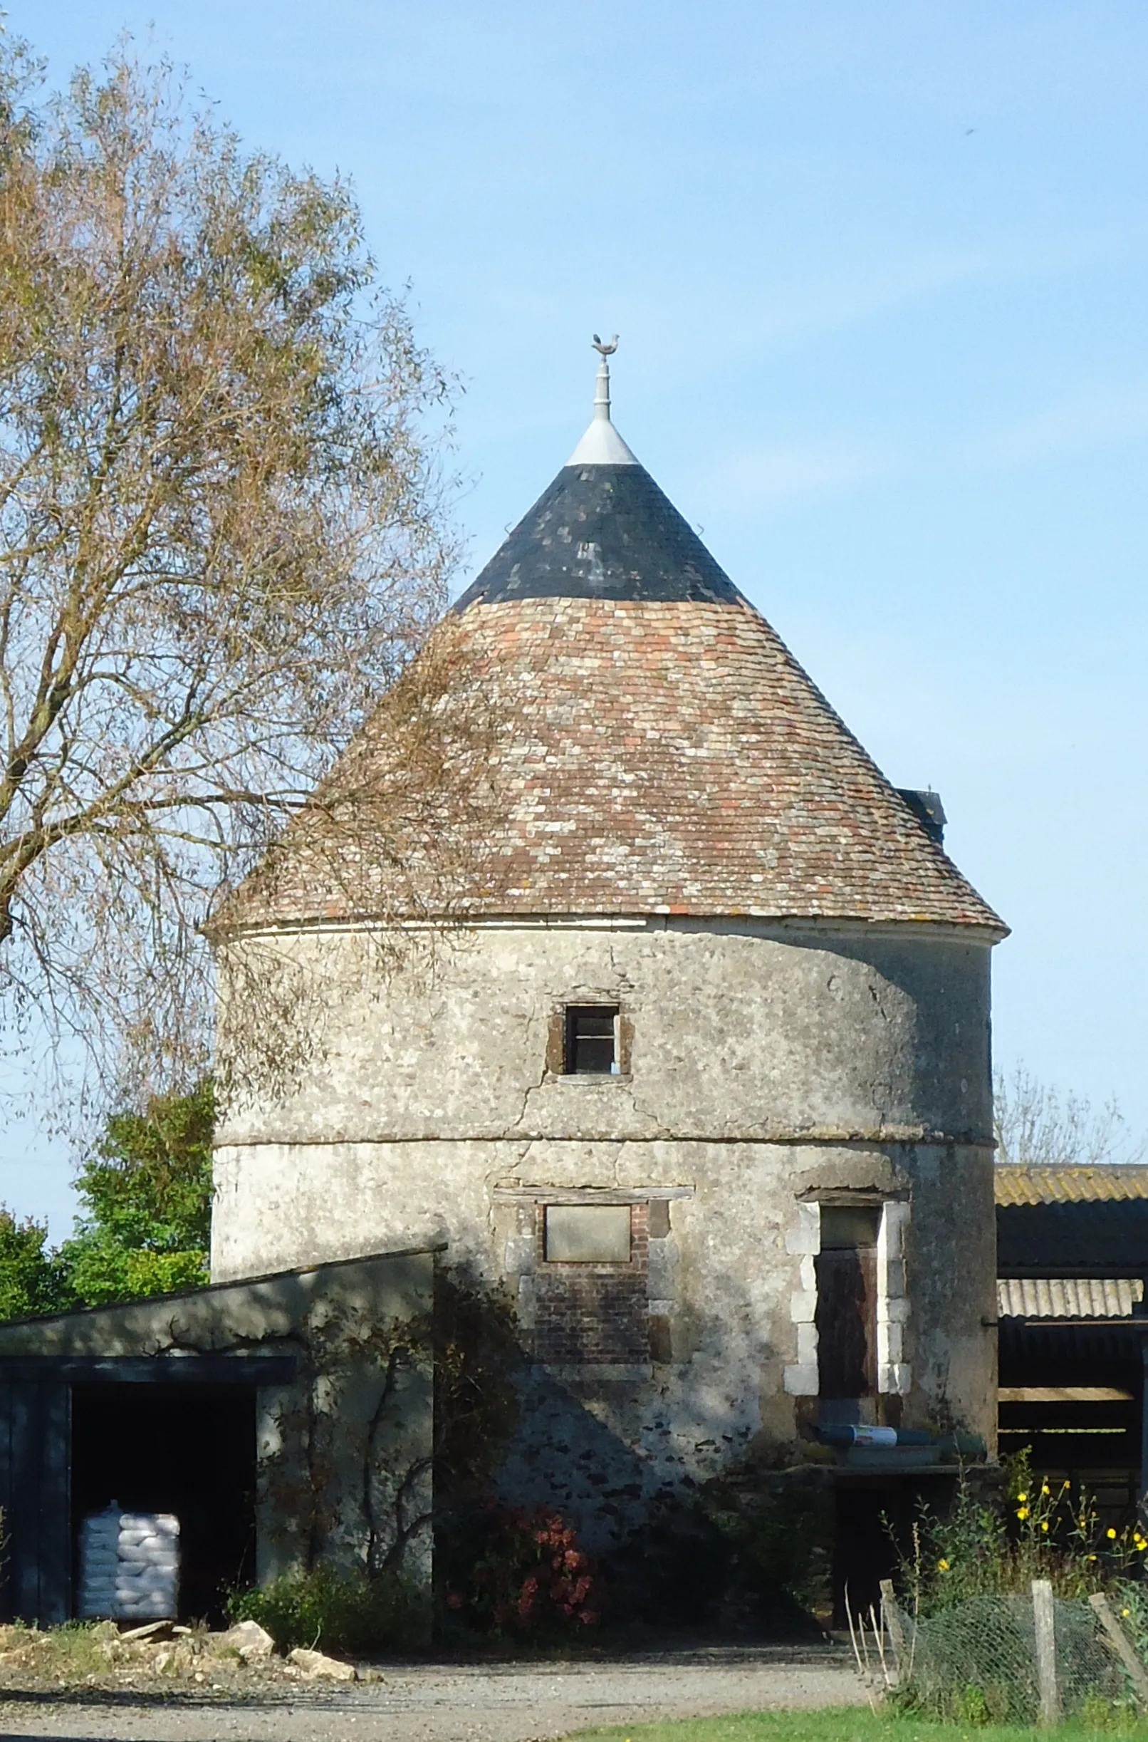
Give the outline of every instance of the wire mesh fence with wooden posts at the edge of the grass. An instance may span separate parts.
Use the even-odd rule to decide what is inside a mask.
[[[1129,1615],[1124,1610],[1124,1615]],[[1103,1599],[977,1596],[929,1617],[897,1608],[850,1615],[857,1665],[875,1697],[894,1695],[956,1723],[1052,1725],[1148,1705],[1148,1669]]]

